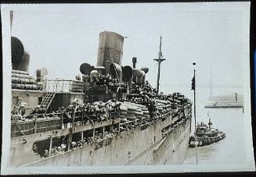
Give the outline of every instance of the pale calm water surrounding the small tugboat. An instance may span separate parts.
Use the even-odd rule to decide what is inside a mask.
[[[230,93],[230,90],[222,89],[219,90],[219,93]],[[243,108],[204,108],[208,96],[205,88],[197,90],[197,122],[207,123],[207,112],[209,112],[213,127],[222,130],[226,137],[218,143],[198,147],[198,163],[201,165],[245,163],[247,161],[247,147],[244,146]],[[194,129],[194,124],[192,127]],[[185,165],[196,164],[195,150],[196,148],[189,148],[184,161]]]

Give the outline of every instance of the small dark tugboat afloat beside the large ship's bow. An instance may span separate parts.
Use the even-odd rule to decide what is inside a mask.
[[[197,124],[196,133],[194,133],[197,136],[197,147],[207,146],[211,143],[216,143],[225,138],[224,132],[211,127],[211,125],[212,125],[212,122],[210,117],[209,117],[208,126],[204,122]],[[196,147],[195,136],[189,137],[189,147]]]

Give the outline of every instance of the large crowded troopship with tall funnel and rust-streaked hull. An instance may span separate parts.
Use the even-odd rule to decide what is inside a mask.
[[[45,68],[31,76],[29,53],[11,41],[9,166],[182,164],[192,101],[158,93],[137,58],[122,65],[121,34],[101,32],[96,65],[82,63],[74,80],[49,80]]]

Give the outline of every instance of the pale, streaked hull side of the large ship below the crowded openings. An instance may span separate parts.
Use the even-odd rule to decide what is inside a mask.
[[[178,119],[185,118],[181,113],[176,117],[168,116],[164,121],[158,119],[151,122],[146,129],[137,127],[114,136],[105,141],[101,147],[92,143],[84,147],[56,154],[49,158],[34,158],[33,150],[27,151],[27,157],[34,160],[20,163],[23,148],[14,144],[11,150],[11,165],[13,166],[90,166],[90,165],[168,165],[181,164],[189,147],[191,114],[177,125],[168,136],[162,137],[161,130]],[[31,142],[33,143],[33,142]],[[30,143],[30,144],[31,144]],[[26,146],[23,144],[23,146]],[[27,147],[28,148],[28,147]],[[26,148],[26,149],[27,149]],[[35,155],[34,155],[35,156]],[[27,161],[28,162],[28,161]]]

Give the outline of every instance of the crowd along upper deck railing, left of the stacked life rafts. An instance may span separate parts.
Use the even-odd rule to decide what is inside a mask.
[[[63,115],[63,123],[83,121],[89,122],[101,122],[107,119],[114,119],[119,111],[120,103],[114,103],[109,101],[103,103],[103,101],[87,104],[78,104],[78,99],[74,99],[73,103],[67,106],[67,108],[61,107],[57,111],[46,113],[44,105],[38,105],[31,110],[31,112],[25,116],[25,104],[18,104],[13,107],[12,121],[25,121],[26,119],[49,118],[54,116]]]

